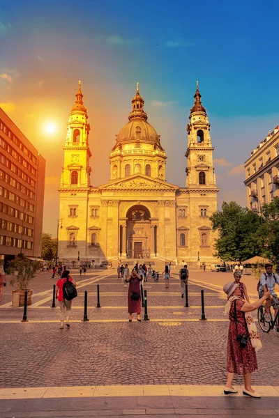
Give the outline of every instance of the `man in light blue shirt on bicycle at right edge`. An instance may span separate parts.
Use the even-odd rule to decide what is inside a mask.
[[[267,263],[265,266],[266,272],[262,274],[261,278],[259,279],[259,283],[257,285],[257,290],[259,291],[259,297],[264,295],[264,292],[270,291],[271,297],[266,299],[266,320],[270,318],[270,309],[271,305],[274,309],[274,314],[276,315],[279,309],[279,300],[274,291],[274,287],[279,284],[279,276],[278,274],[272,271],[273,265],[271,263]]]

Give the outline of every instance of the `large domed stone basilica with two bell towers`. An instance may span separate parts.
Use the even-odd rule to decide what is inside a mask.
[[[59,187],[59,259],[216,262],[209,217],[217,210],[210,123],[199,87],[187,125],[186,187],[165,178],[163,139],[147,121],[139,86],[112,144],[110,180],[93,185],[90,125],[79,83],[67,125]],[[92,139],[91,139],[92,140]],[[184,176],[181,167],[181,177]]]

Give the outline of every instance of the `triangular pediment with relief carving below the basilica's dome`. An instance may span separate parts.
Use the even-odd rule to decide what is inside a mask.
[[[102,190],[165,190],[175,192],[179,186],[172,185],[162,180],[155,180],[143,174],[135,174],[126,178],[112,180],[110,183],[99,186]]]

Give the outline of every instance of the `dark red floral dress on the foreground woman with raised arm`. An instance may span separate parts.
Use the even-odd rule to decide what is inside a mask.
[[[236,300],[236,318],[240,321],[237,323],[239,335],[247,335],[244,312],[241,312],[241,307],[244,303],[245,300]],[[227,371],[243,375],[243,373],[252,373],[258,370],[255,348],[252,348],[250,339],[248,339],[246,347],[241,348],[236,336],[234,302],[232,302],[232,307],[229,311],[229,333],[227,336]]]

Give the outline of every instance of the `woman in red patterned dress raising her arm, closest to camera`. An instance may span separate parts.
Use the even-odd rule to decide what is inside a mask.
[[[229,332],[227,336],[227,383],[224,393],[235,394],[237,389],[232,386],[234,374],[244,377],[243,395],[252,398],[261,396],[251,387],[252,373],[258,369],[256,351],[262,348],[257,327],[250,312],[255,311],[271,295],[266,291],[264,296],[250,304],[241,297],[239,285],[228,281],[223,291],[227,294],[225,314],[229,316]]]

